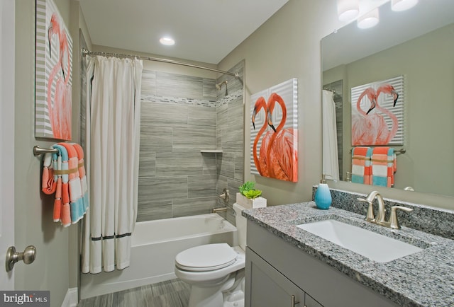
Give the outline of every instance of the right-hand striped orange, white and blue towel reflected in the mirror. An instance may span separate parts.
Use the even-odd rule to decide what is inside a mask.
[[[396,171],[397,159],[394,149],[375,147],[372,152],[372,185],[392,187]]]

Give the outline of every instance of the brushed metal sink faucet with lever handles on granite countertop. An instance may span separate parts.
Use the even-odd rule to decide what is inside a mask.
[[[374,217],[374,200],[377,198],[378,202],[378,214],[377,218]],[[392,229],[400,229],[399,221],[397,220],[397,209],[405,211],[405,212],[412,212],[413,209],[402,207],[402,206],[393,206],[391,207],[391,214],[389,215],[389,221],[385,220],[386,209],[384,209],[384,201],[382,195],[380,195],[377,191],[372,191],[364,198],[358,198],[360,202],[367,202],[369,207],[367,207],[367,215],[366,221],[370,221],[371,223],[382,225]]]

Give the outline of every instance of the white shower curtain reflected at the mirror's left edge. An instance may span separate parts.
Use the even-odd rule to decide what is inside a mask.
[[[326,179],[339,180],[338,163],[338,134],[336,129],[336,103],[333,92],[323,90],[322,97],[322,122],[323,122],[323,174]]]

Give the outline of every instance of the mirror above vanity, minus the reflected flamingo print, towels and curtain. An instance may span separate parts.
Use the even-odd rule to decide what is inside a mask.
[[[394,188],[454,196],[454,1],[420,0],[402,12],[390,6],[380,6],[374,28],[353,22],[321,40],[341,180],[351,170],[351,89],[404,76],[404,144],[392,147],[405,153],[397,154]]]

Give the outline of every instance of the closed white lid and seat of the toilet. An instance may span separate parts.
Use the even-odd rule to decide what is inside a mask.
[[[175,257],[182,270],[200,272],[228,267],[236,261],[236,252],[227,243],[199,245],[183,250]]]

